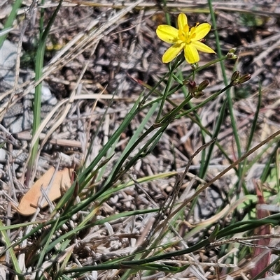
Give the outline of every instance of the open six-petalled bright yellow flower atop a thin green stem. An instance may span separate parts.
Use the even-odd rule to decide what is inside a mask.
[[[162,24],[159,25],[156,30],[161,40],[173,44],[165,54],[163,54],[163,63],[172,61],[181,50],[184,50],[186,61],[188,61],[189,64],[195,64],[200,61],[197,50],[200,52],[215,53],[211,47],[200,42],[200,40],[209,33],[211,29],[210,24],[197,23],[195,27],[190,28],[188,26],[187,16],[181,13],[178,17],[178,27],[179,29],[176,29],[170,25]]]

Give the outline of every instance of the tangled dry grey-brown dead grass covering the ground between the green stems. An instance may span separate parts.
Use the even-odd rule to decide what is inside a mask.
[[[254,134],[252,146],[269,138],[272,133],[279,130],[279,96],[280,96],[280,22],[279,1],[218,1],[214,3],[217,17],[217,29],[221,38],[221,48],[225,54],[233,47],[237,47],[238,61],[226,61],[228,77],[235,70],[241,73],[250,73],[251,82],[235,88],[232,98],[235,101],[233,110],[237,122],[237,129],[241,140],[241,147],[246,147],[249,137],[249,128],[255,116],[255,108],[258,105],[259,89],[262,91],[262,105],[258,117],[257,131]],[[11,1],[1,4],[1,21],[10,13]],[[172,23],[176,21],[179,12],[187,13],[191,25],[195,22],[210,22],[209,10],[206,1],[193,3],[193,1],[167,1],[166,7],[158,1],[102,1],[100,3],[90,1],[64,1],[59,10],[55,23],[50,30],[46,43],[45,61],[41,80],[47,83],[52,96],[57,98],[56,105],[45,105],[42,115],[42,124],[35,137],[31,136],[31,103],[30,92],[39,81],[34,80],[34,74],[29,69],[34,68],[34,38],[38,35],[39,13],[38,6],[27,9],[31,1],[24,1],[18,11],[18,25],[10,31],[8,40],[18,43],[22,40],[21,49],[18,48],[18,64],[15,71],[20,74],[22,82],[15,81],[12,88],[3,83],[1,87],[1,140],[6,143],[5,156],[1,157],[1,220],[5,226],[27,223],[29,221],[48,221],[49,209],[42,209],[33,220],[20,216],[16,207],[20,198],[27,192],[32,184],[25,180],[25,170],[31,146],[34,138],[41,139],[38,151],[36,172],[33,177],[39,178],[52,165],[61,167],[90,165],[97,157],[102,147],[106,145],[113,132],[139,98],[141,91],[153,87],[167,73],[167,66],[162,64],[161,57],[167,45],[160,42],[155,36],[155,29],[159,24],[165,23],[165,11],[171,15]],[[45,24],[57,6],[56,1],[45,1]],[[22,15],[30,16],[26,26]],[[28,17],[27,17],[28,18]],[[207,38],[207,43],[215,49],[214,31]],[[200,64],[209,61],[209,54],[202,54]],[[20,64],[19,64],[20,62]],[[191,67],[183,64],[182,75],[191,71]],[[193,105],[198,105],[209,96],[223,87],[223,75],[219,64],[210,66],[202,71],[197,82],[209,80],[209,87],[202,98],[192,100]],[[165,83],[157,88],[162,91]],[[185,96],[183,91],[176,91],[170,100],[176,104],[181,103]],[[197,112],[200,115],[201,124],[212,131],[216,125],[216,116],[223,106],[225,96],[219,96]],[[164,113],[172,110],[173,106],[166,103]],[[186,108],[188,109],[188,108]],[[102,189],[106,179],[110,177],[111,170],[122,155],[132,135],[141,126],[143,119],[149,110],[143,110],[135,117],[130,125],[120,135],[118,143],[112,152],[112,159],[102,173],[102,177],[96,175],[94,184],[90,188]],[[22,128],[10,135],[12,122],[8,119],[27,116],[27,123],[22,121]],[[146,123],[146,128],[153,126],[155,117],[151,117]],[[97,133],[96,133],[97,132]],[[153,137],[148,135],[147,141]],[[207,141],[209,137],[205,138]],[[237,159],[237,146],[235,143],[230,113],[225,112],[223,126],[218,134],[218,142],[225,150],[228,157]],[[92,149],[89,149],[90,142]],[[167,225],[162,223],[170,213],[160,213],[155,216],[153,212],[134,216],[125,216],[126,212],[143,209],[161,209],[162,205],[169,203],[183,203],[195,193],[198,184],[204,184],[216,177],[219,172],[228,166],[221,149],[214,148],[213,157],[205,178],[197,177],[199,174],[201,154],[192,158],[197,149],[204,144],[200,127],[190,118],[181,118],[173,121],[162,135],[153,152],[122,177],[120,185],[115,193],[112,191],[102,207],[97,207],[95,217],[92,219],[106,219],[109,221],[99,226],[81,230],[71,240],[64,251],[57,253],[57,263],[61,263],[67,254],[71,253],[71,261],[66,269],[70,270],[75,265],[86,267],[88,265],[102,265],[108,260],[117,257],[130,256],[141,251],[149,238],[158,230],[163,235]],[[137,154],[138,149],[130,155]],[[249,193],[255,192],[253,178],[258,179],[260,172],[267,163],[267,156],[271,156],[274,147],[267,149],[263,154],[253,154],[249,159],[258,161],[247,172],[244,182]],[[3,151],[2,151],[3,152]],[[174,190],[176,184],[176,172],[183,172],[186,165],[193,160],[186,179],[180,189]],[[158,176],[165,174],[165,176]],[[155,178],[159,177],[157,180]],[[148,178],[148,179],[147,179]],[[129,182],[124,189],[124,185]],[[173,235],[162,238],[162,244],[172,243],[167,253],[179,249],[188,248],[208,236],[213,231],[214,223],[228,226],[232,221],[241,221],[248,212],[242,209],[235,212],[237,205],[244,202],[239,197],[241,186],[236,188],[239,178],[236,172],[231,170],[224,177],[219,178],[209,186],[207,191],[197,197],[195,203],[189,203],[181,216],[178,216],[178,224],[172,226]],[[141,183],[141,184],[139,184]],[[124,184],[124,185],[122,185]],[[83,198],[90,196],[92,189],[87,189]],[[248,194],[248,193],[246,193]],[[171,196],[171,198],[170,198]],[[178,196],[178,197],[177,197]],[[274,193],[274,196],[277,196]],[[169,200],[170,198],[170,200]],[[232,203],[233,198],[235,202]],[[239,200],[240,198],[240,200]],[[176,200],[176,201],[175,201]],[[247,202],[247,201],[246,201]],[[93,202],[92,207],[94,207]],[[248,202],[249,203],[249,202]],[[244,210],[244,211],[243,211]],[[176,213],[176,212],[174,212]],[[119,215],[113,220],[114,215]],[[75,230],[77,225],[83,223],[85,213],[83,210],[71,222],[66,223],[60,235]],[[93,223],[93,221],[92,221]],[[48,228],[47,228],[48,230]],[[21,230],[11,230],[10,240],[15,242]],[[22,267],[29,267],[32,262],[33,252],[38,253],[38,242],[41,241],[40,233],[34,240],[28,240],[25,244],[22,258]],[[59,236],[57,236],[59,238]],[[188,242],[186,242],[188,240]],[[146,242],[146,243],[145,243]],[[3,249],[7,244],[3,243]],[[276,246],[275,244],[274,246]],[[22,245],[21,245],[22,246]],[[150,244],[149,244],[150,246]],[[154,248],[153,248],[154,249]],[[23,250],[22,247],[20,250]],[[228,249],[230,250],[230,249]],[[235,247],[231,247],[235,251]],[[232,252],[231,251],[231,252]],[[22,252],[19,253],[19,255]],[[70,256],[70,255],[69,255]],[[148,255],[147,255],[148,256]],[[217,251],[205,251],[200,249],[195,253],[186,254],[167,261],[161,261],[158,265],[164,267],[183,266],[194,263],[188,269],[177,274],[156,272],[135,274],[137,279],[241,279],[248,275],[252,264],[257,260],[247,259],[239,263],[226,264],[223,262],[226,253],[219,256]],[[69,257],[70,258],[70,257]],[[48,265],[52,257],[47,254],[43,261],[42,271],[48,271]],[[10,264],[9,256],[3,255],[1,260],[5,265]],[[217,264],[215,264],[217,263]],[[112,266],[113,267],[113,266]],[[228,274],[228,267],[241,267],[241,270],[232,270]],[[94,268],[92,268],[94,270]],[[131,269],[132,270],[132,269]],[[2,270],[3,279],[7,279],[8,270]],[[92,271],[92,279],[133,279],[133,270],[130,275],[125,274],[124,269],[106,268],[101,272]],[[10,277],[13,272],[10,272]],[[218,276],[217,276],[218,275]],[[34,274],[32,274],[34,277]],[[48,275],[45,276],[48,278]],[[87,275],[87,277],[89,277]],[[127,278],[125,278],[127,277]],[[150,277],[150,278],[149,278]],[[169,277],[169,278],[168,278]],[[57,278],[58,279],[58,278]],[[275,278],[276,279],[276,278]]]

